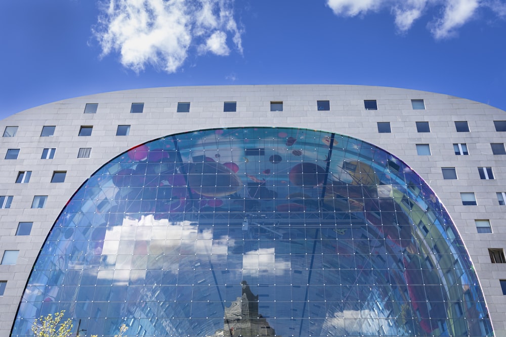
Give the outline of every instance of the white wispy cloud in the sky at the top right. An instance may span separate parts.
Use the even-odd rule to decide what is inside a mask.
[[[429,24],[436,39],[453,36],[480,8],[489,8],[499,17],[506,16],[506,4],[501,0],[327,0],[327,6],[336,15],[348,17],[389,9],[400,32],[409,30],[432,8],[435,13],[442,13]]]

